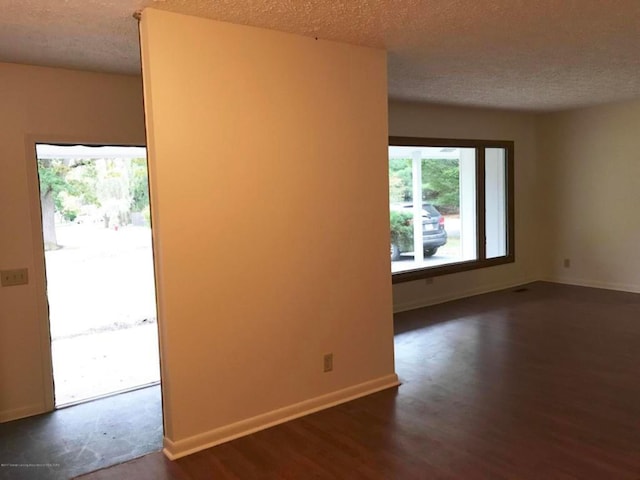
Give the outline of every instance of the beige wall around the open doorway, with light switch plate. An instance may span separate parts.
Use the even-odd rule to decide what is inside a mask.
[[[52,407],[34,141],[144,145],[139,77],[0,63],[0,421]]]

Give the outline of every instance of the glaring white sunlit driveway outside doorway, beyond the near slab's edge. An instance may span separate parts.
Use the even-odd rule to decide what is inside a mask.
[[[56,227],[59,250],[46,252],[54,339],[156,318],[151,229]]]

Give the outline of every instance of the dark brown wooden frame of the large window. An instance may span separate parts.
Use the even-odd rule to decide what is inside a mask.
[[[470,140],[453,138],[425,138],[425,137],[389,137],[389,146],[398,147],[451,147],[474,148],[476,151],[476,241],[477,256],[475,260],[422,267],[404,272],[391,274],[392,283],[410,282],[425,278],[449,275],[451,273],[466,272],[480,268],[493,267],[515,262],[515,199],[514,199],[514,155],[515,145],[511,140]],[[506,226],[506,255],[486,258],[486,171],[485,149],[502,148],[505,151],[505,221]],[[388,163],[388,160],[387,160]],[[446,228],[446,227],[445,227]]]

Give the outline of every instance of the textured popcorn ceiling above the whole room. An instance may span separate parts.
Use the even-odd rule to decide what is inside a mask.
[[[152,6],[386,48],[391,98],[548,111],[640,97],[640,0],[0,0],[0,61],[139,74]]]

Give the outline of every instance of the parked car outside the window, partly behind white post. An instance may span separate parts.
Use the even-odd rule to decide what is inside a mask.
[[[389,206],[391,224],[391,260],[399,260],[413,248],[413,204],[396,203]],[[432,257],[447,243],[444,217],[430,203],[422,204],[422,247],[425,257]]]

